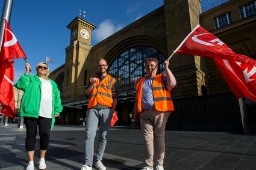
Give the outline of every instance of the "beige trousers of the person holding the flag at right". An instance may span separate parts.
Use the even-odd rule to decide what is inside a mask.
[[[165,127],[170,113],[146,110],[140,113],[146,166],[153,168],[154,142],[157,165],[163,166]]]

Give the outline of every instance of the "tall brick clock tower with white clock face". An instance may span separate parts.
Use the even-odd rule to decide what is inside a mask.
[[[96,28],[92,23],[81,17],[76,17],[67,25],[70,29],[70,44],[66,47],[66,64],[64,73],[63,97],[69,100],[85,93],[87,66],[90,55],[92,30]]]

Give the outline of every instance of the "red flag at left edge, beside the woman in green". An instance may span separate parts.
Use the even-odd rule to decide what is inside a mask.
[[[5,20],[4,37],[0,52],[0,103],[2,103],[2,115],[12,118],[15,117],[13,93],[14,58],[22,57],[26,58],[26,55]]]

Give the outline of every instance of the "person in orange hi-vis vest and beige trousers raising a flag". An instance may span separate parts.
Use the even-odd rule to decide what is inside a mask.
[[[145,60],[147,75],[135,81],[136,100],[134,120],[140,118],[146,166],[142,170],[153,170],[154,142],[156,170],[163,170],[164,134],[170,115],[174,111],[170,90],[176,86],[176,79],[169,69],[169,60],[164,61],[165,74],[157,74],[158,60]]]

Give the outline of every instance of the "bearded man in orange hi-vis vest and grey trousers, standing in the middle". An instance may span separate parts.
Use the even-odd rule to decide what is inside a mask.
[[[86,112],[85,164],[81,170],[92,170],[94,139],[99,124],[99,142],[96,152],[95,166],[99,170],[106,167],[101,162],[107,144],[107,132],[113,112],[117,105],[117,82],[107,74],[107,61],[100,58],[97,62],[98,76],[91,77],[87,96],[90,96]]]

